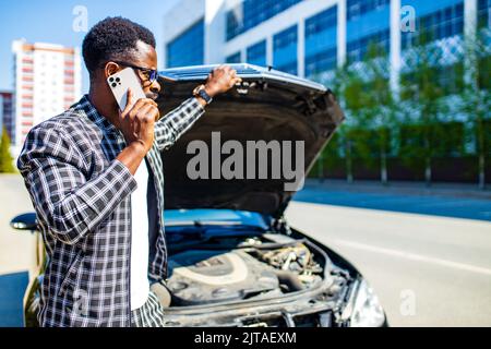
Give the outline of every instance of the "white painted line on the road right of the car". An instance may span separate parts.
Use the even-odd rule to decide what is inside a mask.
[[[446,261],[446,260],[441,260],[441,258],[435,258],[435,257],[424,256],[421,254],[397,251],[397,250],[392,250],[392,249],[384,249],[384,248],[373,246],[370,244],[352,242],[352,241],[342,240],[342,239],[335,239],[335,240],[333,240],[333,242],[337,243],[339,245],[345,245],[345,246],[352,248],[352,249],[370,251],[370,252],[374,252],[374,253],[382,253],[382,254],[392,255],[392,256],[411,260],[411,261],[433,263],[433,264],[438,264],[441,266],[451,267],[454,269],[460,269],[460,270],[466,270],[466,272],[470,272],[470,273],[484,274],[484,275],[491,276],[491,269],[470,265],[470,264],[452,262],[452,261]]]

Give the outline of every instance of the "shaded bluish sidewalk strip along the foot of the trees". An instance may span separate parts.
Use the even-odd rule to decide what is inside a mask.
[[[350,191],[358,193],[386,193],[403,195],[428,195],[491,200],[491,185],[480,190],[474,183],[445,183],[435,182],[427,186],[424,182],[391,181],[383,185],[380,181],[355,180],[348,183],[340,179],[307,179],[304,188],[328,191]]]

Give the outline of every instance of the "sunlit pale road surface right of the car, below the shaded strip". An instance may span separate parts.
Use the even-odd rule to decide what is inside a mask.
[[[368,278],[393,326],[491,326],[491,222],[292,202],[290,225]]]

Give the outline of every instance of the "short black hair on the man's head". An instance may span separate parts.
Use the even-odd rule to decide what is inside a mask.
[[[94,25],[82,44],[82,55],[91,77],[107,61],[131,59],[139,40],[155,48],[154,34],[128,19],[106,17]]]

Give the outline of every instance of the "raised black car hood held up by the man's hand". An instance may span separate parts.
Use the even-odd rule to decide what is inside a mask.
[[[323,85],[256,65],[230,65],[242,77],[242,86],[216,96],[206,106],[205,115],[169,149],[163,152],[165,208],[231,208],[277,218],[295,194],[295,191],[286,190],[285,183],[294,180],[285,179],[283,172],[279,179],[272,179],[270,155],[268,179],[259,178],[258,165],[255,177],[247,179],[247,141],[278,141],[279,144],[283,141],[292,141],[291,144],[303,141],[302,172],[307,176],[316,156],[344,120],[344,115],[333,93]],[[157,99],[160,115],[165,116],[189,98],[193,88],[206,80],[214,67],[196,65],[161,71],[159,79],[163,91]],[[216,169],[216,164],[220,166],[230,157],[229,154],[221,154],[218,155],[219,163],[217,158],[212,159],[216,155],[212,151],[212,133],[216,144],[216,132],[219,132],[220,145],[228,140],[243,145],[244,178],[225,179],[219,174],[219,178],[212,179],[212,167]],[[188,154],[188,145],[195,140],[207,145],[208,179],[191,179],[188,176],[188,164],[197,155],[196,151]],[[292,159],[291,167],[295,169],[295,166]]]

